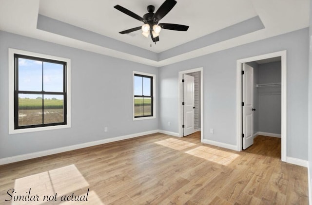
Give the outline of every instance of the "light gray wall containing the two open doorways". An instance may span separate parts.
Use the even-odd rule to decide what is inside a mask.
[[[159,68],[159,129],[178,132],[178,72],[203,67],[204,139],[236,145],[236,60],[287,50],[287,154],[307,160],[308,39],[301,29]]]

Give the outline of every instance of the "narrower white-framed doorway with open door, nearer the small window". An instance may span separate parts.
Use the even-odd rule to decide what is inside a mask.
[[[203,114],[202,114],[203,69],[196,68],[196,69],[181,71],[179,72],[178,75],[179,75],[178,77],[178,81],[179,81],[179,89],[178,89],[179,90],[178,91],[179,136],[183,137],[183,136],[188,135],[188,133],[193,133],[194,131],[201,131],[200,138],[201,138],[201,142],[203,142],[203,126],[202,126],[203,125]],[[191,80],[191,83],[186,82],[184,78]],[[194,80],[193,85],[192,85],[192,79]],[[186,82],[187,84],[185,84],[183,81]],[[192,88],[192,86],[194,86],[194,90],[193,90],[193,93],[192,92],[190,93],[194,94],[193,99],[192,97],[185,95],[185,90],[187,90],[187,87]],[[188,99],[189,99],[189,102],[186,103]],[[189,122],[187,122],[187,120]],[[188,124],[189,128],[188,126],[187,127],[185,126],[186,124]]]

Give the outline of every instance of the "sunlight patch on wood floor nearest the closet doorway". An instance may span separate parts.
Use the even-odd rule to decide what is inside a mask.
[[[190,149],[185,151],[185,153],[225,166],[229,165],[239,156],[238,154],[232,152],[205,146],[199,146],[194,149]]]

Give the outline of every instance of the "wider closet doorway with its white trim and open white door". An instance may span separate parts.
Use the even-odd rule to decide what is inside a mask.
[[[237,60],[237,150],[248,148],[257,135],[280,137],[286,161],[286,71],[286,51]]]

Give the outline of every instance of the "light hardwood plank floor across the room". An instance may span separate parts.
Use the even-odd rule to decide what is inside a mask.
[[[281,162],[280,149],[273,137],[238,152],[200,143],[199,132],[156,133],[0,166],[0,204],[308,205],[307,168]],[[29,188],[39,201],[14,201]],[[61,201],[73,193],[88,201]]]

